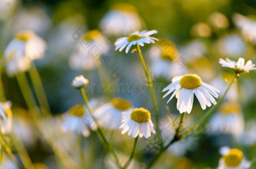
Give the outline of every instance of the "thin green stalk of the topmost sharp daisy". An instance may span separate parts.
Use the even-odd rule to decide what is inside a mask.
[[[146,63],[144,61],[144,58],[141,54],[141,48],[140,46],[138,45],[138,43],[136,44],[136,47],[137,47],[137,51],[138,51],[138,56],[140,58],[140,61],[141,61],[141,65],[143,67],[143,70],[144,70],[144,73],[145,73],[145,76],[146,76],[146,79],[147,79],[147,82],[149,83],[149,90],[150,90],[150,93],[151,93],[151,97],[152,97],[152,102],[153,102],[153,106],[154,106],[154,111],[155,111],[155,121],[156,121],[156,128],[157,128],[157,137],[158,139],[161,140],[162,142],[162,139],[161,139],[161,135],[160,135],[160,130],[159,130],[159,124],[158,124],[158,116],[159,116],[159,110],[158,110],[158,106],[157,106],[157,99],[156,99],[156,95],[154,93],[154,88],[153,88],[153,81],[149,80],[148,76],[149,76],[149,72],[146,68]]]

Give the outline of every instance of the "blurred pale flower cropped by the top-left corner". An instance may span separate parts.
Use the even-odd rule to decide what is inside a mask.
[[[9,17],[15,3],[16,0],[0,0],[0,20]]]

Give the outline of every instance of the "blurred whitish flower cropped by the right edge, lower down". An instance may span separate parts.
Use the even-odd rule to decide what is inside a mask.
[[[244,145],[251,146],[256,144],[256,121],[246,121],[246,129],[238,138],[238,141]]]

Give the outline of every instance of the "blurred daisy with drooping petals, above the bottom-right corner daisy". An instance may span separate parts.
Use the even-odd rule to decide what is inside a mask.
[[[244,130],[242,109],[236,102],[222,103],[219,111],[209,121],[209,134],[240,136]]]

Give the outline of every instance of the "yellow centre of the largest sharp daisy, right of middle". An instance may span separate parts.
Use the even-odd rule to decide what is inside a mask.
[[[201,83],[201,78],[196,74],[186,74],[180,79],[180,86],[187,89],[198,88]]]

